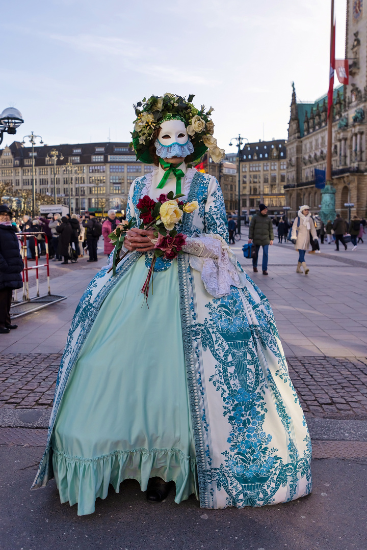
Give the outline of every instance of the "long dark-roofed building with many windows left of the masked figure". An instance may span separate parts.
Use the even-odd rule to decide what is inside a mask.
[[[50,158],[57,151],[56,165]],[[125,142],[35,146],[36,193],[56,194],[58,202],[72,212],[109,208],[125,210],[130,185],[140,175],[151,172],[152,164],[136,161]],[[32,189],[32,148],[14,141],[0,150],[0,178],[17,191]],[[70,196],[69,196],[70,184]]]

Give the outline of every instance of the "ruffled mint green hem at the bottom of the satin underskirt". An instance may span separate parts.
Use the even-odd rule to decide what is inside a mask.
[[[179,449],[116,450],[91,459],[53,449],[52,463],[61,503],[78,503],[78,515],[92,514],[96,498],[107,497],[109,483],[118,493],[126,479],[138,481],[146,491],[151,477],[161,477],[176,483],[177,504],[193,493],[199,499],[196,459]]]

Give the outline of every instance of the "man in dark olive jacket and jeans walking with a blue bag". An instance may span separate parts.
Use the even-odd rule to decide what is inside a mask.
[[[269,245],[273,244],[274,233],[271,219],[267,215],[267,206],[259,205],[259,214],[255,214],[251,219],[249,227],[249,243],[254,241],[255,256],[253,257],[253,268],[255,273],[258,271],[258,256],[260,246],[262,246],[262,274],[267,275],[267,259]]]

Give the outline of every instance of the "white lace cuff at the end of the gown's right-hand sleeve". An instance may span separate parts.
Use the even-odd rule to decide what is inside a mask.
[[[231,294],[231,286],[244,288],[246,275],[220,235],[187,238],[186,243],[183,251],[190,254],[190,266],[201,273],[205,289],[213,298]]]

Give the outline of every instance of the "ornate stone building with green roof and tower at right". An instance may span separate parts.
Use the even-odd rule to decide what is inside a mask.
[[[349,84],[333,93],[332,184],[336,212],[348,217],[344,203],[352,202],[351,215],[366,216],[367,158],[367,6],[347,0],[346,58]],[[336,76],[335,76],[336,78]],[[327,95],[314,103],[297,102],[293,85],[287,142],[287,183],[284,185],[289,215],[308,204],[320,210],[320,190],[315,188],[315,168],[326,168]]]

